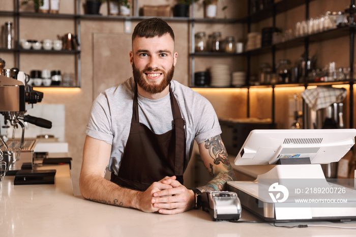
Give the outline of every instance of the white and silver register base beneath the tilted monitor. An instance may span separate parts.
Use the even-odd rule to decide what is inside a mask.
[[[274,193],[272,188],[276,185],[288,187],[288,199],[282,200],[283,194],[275,195],[275,200],[272,199],[270,193]],[[296,207],[296,204],[301,203],[295,203],[294,198],[335,198],[330,191],[325,194],[318,193],[316,189],[316,193],[311,193],[314,188],[341,191],[342,198],[347,199],[345,207],[333,207],[325,203],[319,203],[319,206],[315,203],[304,203],[302,208]],[[255,181],[227,182],[227,190],[238,194],[245,209],[267,221],[356,219],[356,190],[328,182],[320,164],[276,165],[270,171],[258,175]]]

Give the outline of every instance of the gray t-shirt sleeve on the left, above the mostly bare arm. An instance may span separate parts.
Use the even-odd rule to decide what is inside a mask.
[[[105,94],[100,94],[93,102],[86,135],[112,145],[111,114]]]

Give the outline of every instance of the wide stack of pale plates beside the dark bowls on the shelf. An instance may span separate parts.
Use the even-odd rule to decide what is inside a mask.
[[[227,65],[214,65],[210,68],[211,86],[224,87],[230,86],[230,68]]]

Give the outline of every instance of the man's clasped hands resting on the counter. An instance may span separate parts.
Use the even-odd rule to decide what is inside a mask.
[[[166,176],[153,183],[140,196],[139,209],[143,212],[171,215],[183,213],[194,206],[194,192],[177,181],[175,176]]]

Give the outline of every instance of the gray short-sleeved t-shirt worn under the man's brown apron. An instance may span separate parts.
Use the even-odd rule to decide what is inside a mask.
[[[199,144],[221,133],[218,117],[211,103],[191,88],[172,80],[171,90],[186,121],[186,156],[192,154],[194,139]],[[118,173],[120,161],[130,133],[132,104],[135,92],[133,78],[101,93],[93,102],[86,134],[111,144],[109,171]],[[172,129],[169,94],[158,100],[138,95],[140,123],[156,134]]]

